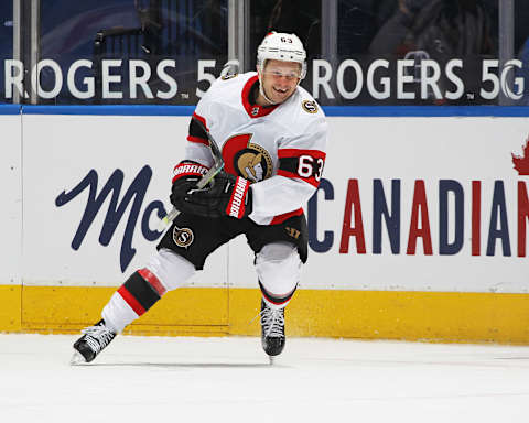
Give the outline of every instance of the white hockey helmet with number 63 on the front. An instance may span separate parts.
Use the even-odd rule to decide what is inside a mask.
[[[295,62],[301,65],[301,79],[306,75],[306,52],[295,34],[270,32],[257,48],[257,66],[264,70],[267,61]]]

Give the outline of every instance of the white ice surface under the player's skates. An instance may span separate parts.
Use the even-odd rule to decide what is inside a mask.
[[[0,335],[0,422],[529,421],[529,347],[119,336],[71,367],[75,339]]]

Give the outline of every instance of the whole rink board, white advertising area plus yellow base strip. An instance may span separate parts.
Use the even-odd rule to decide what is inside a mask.
[[[0,115],[9,182],[0,330],[76,332],[97,321],[160,239],[156,215],[170,206],[188,126],[188,116],[43,110],[53,109]],[[290,334],[529,344],[529,176],[512,162],[529,119],[328,122]],[[220,248],[130,332],[257,334],[252,259],[244,238]]]

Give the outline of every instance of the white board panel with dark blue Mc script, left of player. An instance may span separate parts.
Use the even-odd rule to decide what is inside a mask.
[[[158,243],[142,229],[156,229],[155,202],[171,206],[187,126],[180,117],[24,116],[24,284],[118,285],[142,268]],[[121,217],[108,213],[120,207]],[[226,272],[220,249],[190,283],[224,285]]]

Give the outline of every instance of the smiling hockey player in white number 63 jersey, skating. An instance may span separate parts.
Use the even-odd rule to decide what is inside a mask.
[[[114,293],[101,321],[83,330],[74,364],[91,361],[165,292],[202,270],[210,252],[242,234],[262,292],[262,347],[270,357],[281,354],[284,307],[307,258],[302,206],[322,177],[327,139],[323,111],[299,86],[305,58],[296,35],[270,33],[258,47],[257,73],[222,77],[201,99],[172,180],[170,199],[181,214],[147,265]],[[196,189],[214,162],[205,130],[220,144],[225,171]]]

